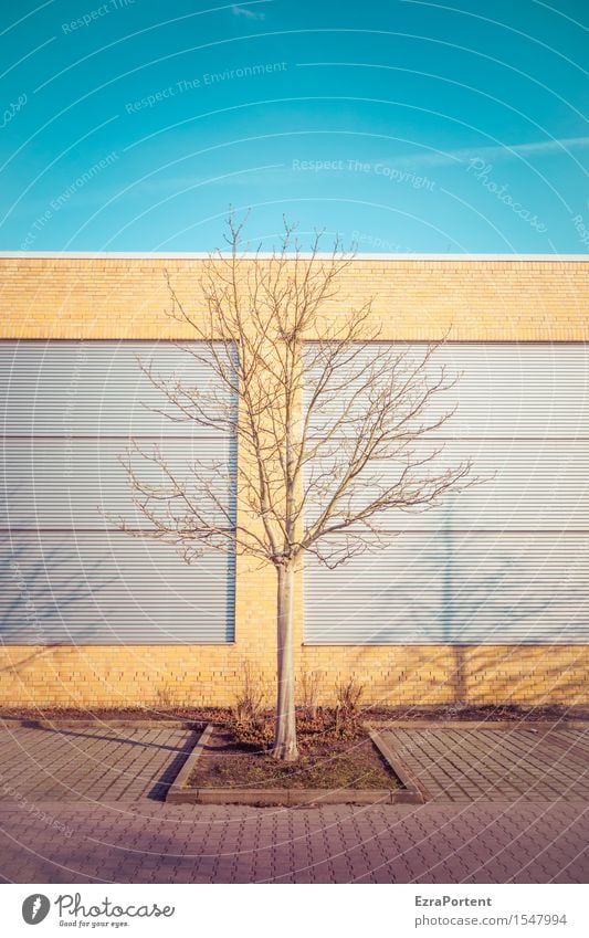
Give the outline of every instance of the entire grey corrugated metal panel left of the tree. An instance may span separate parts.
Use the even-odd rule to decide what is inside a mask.
[[[227,528],[230,548],[234,527],[230,423],[169,420],[160,411],[173,414],[173,408],[139,360],[197,389],[213,414],[233,419],[233,401],[199,344],[0,342],[4,643],[233,640],[234,551],[208,549],[188,566],[170,545],[116,530],[118,519],[134,529],[147,526],[120,464],[134,453],[132,440],[148,456],[157,452],[186,483],[207,519]],[[169,485],[152,462],[137,453],[132,460],[141,482]],[[212,481],[222,508],[214,498],[207,503],[194,472]]]

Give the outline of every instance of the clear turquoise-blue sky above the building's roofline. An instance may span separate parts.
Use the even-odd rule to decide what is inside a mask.
[[[586,0],[0,13],[0,250],[586,253]],[[585,53],[585,55],[583,55]]]

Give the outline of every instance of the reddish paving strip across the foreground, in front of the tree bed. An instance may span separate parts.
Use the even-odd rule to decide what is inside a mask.
[[[0,873],[17,883],[587,883],[588,843],[571,802],[0,805]]]

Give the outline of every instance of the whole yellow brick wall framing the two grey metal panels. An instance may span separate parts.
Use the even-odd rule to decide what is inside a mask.
[[[165,315],[165,272],[198,314],[196,259],[0,259],[0,338],[191,337]],[[334,310],[375,297],[382,338],[583,341],[589,261],[357,260]],[[246,663],[273,696],[274,572],[238,558],[232,645],[6,646],[0,705],[232,703]],[[305,646],[296,597],[296,667],[324,703],[350,676],[379,704],[589,703],[589,647],[579,645]]]

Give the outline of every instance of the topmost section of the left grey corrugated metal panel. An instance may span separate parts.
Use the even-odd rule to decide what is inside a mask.
[[[188,344],[187,344],[188,345]],[[196,344],[194,344],[196,345]],[[206,354],[202,349],[201,354]],[[172,422],[149,408],[166,399],[143,373],[178,375],[200,391],[215,391],[206,365],[171,342],[0,341],[0,420],[2,432],[36,436],[210,436],[215,431],[193,421]],[[168,407],[169,412],[173,408]]]

